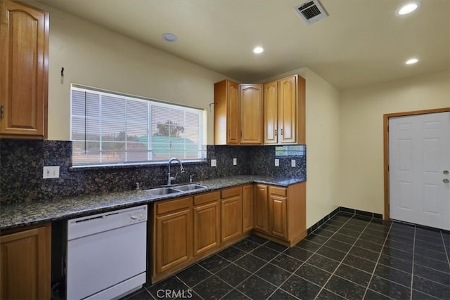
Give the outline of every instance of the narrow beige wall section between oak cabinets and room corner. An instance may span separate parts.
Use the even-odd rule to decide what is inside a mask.
[[[264,79],[300,74],[306,79],[307,227],[340,204],[335,197],[339,175],[339,91],[308,68]]]

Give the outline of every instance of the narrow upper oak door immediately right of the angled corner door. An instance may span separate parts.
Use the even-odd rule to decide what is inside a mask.
[[[264,84],[264,144],[278,143],[278,81]]]

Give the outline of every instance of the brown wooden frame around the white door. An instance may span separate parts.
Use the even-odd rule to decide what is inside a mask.
[[[390,219],[390,201],[389,201],[389,119],[392,117],[405,117],[412,115],[434,114],[437,112],[450,112],[450,107],[436,108],[432,110],[415,110],[412,112],[394,112],[383,115],[383,157],[384,157],[384,177],[385,177],[385,216],[384,219]]]

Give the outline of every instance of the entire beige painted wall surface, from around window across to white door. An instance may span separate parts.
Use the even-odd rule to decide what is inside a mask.
[[[34,5],[51,14],[49,139],[70,139],[70,84],[77,83],[203,107],[213,143],[209,104],[224,75]],[[383,114],[450,106],[449,73],[341,93],[307,68],[264,81],[295,73],[307,80],[307,226],[339,206],[383,213]]]

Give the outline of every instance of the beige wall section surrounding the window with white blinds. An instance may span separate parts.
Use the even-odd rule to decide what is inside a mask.
[[[224,75],[48,6],[33,5],[50,13],[49,140],[70,140],[70,84],[76,83],[205,108],[207,143],[213,143],[209,103],[214,82]]]

